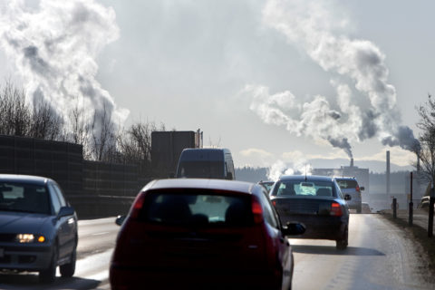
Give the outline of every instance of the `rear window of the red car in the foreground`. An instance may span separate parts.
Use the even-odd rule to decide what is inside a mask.
[[[207,192],[149,192],[140,220],[188,227],[247,226],[253,222],[249,201]]]

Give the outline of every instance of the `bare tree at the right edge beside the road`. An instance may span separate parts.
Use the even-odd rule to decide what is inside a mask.
[[[420,160],[420,176],[433,184],[435,180],[435,101],[431,99],[430,94],[428,102],[420,105],[417,111],[420,115],[417,127],[421,130],[420,149],[416,150]],[[414,166],[417,167],[416,164]]]

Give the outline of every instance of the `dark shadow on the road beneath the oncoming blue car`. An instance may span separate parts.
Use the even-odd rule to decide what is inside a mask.
[[[52,284],[39,283],[34,274],[0,274],[0,289],[95,289],[101,281],[79,277],[56,277]]]

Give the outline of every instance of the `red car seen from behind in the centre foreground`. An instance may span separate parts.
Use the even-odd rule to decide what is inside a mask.
[[[285,236],[302,233],[301,224],[281,226],[260,185],[154,180],[122,222],[111,289],[291,289]]]

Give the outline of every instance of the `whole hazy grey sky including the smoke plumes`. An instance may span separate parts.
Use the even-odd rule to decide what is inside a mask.
[[[201,129],[237,167],[414,158],[433,1],[56,2],[0,0],[0,77],[61,113],[82,93],[120,125]]]

